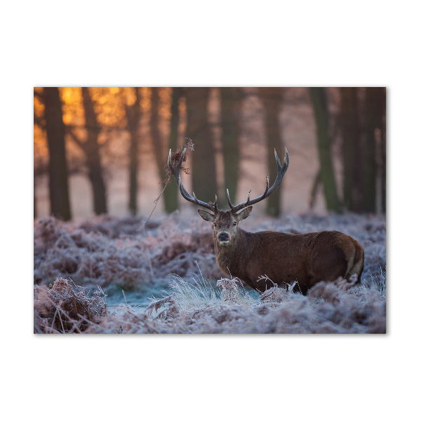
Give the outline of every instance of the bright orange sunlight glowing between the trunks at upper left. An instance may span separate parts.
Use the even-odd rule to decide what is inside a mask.
[[[88,102],[83,97],[83,89],[88,92],[90,98]],[[146,116],[147,123],[150,121],[152,88],[140,88],[138,92],[136,92],[136,89],[133,87],[58,88],[62,102],[62,121],[66,126],[66,152],[70,173],[82,172],[89,175],[91,182],[94,182],[94,179],[102,178],[102,175],[100,175],[103,172],[101,167],[107,172],[110,165],[114,165],[114,163],[126,165],[128,160],[133,161],[133,156],[130,156],[130,154],[133,153],[133,150],[140,150],[139,148],[133,149],[132,144],[130,151],[127,150],[128,140],[133,136],[137,138],[135,142],[152,142],[150,131],[144,132],[142,139],[138,138],[136,133],[133,133],[133,124],[135,124],[133,123],[133,115],[131,116],[132,127],[128,127],[126,112],[135,105],[137,98],[140,100],[140,111],[134,118],[138,119],[138,126],[140,126],[141,115]],[[161,149],[161,159],[165,159],[163,155],[170,132],[172,89],[157,88],[157,91],[159,97],[156,123],[158,123],[157,129],[164,146]],[[36,177],[46,173],[48,163],[42,93],[43,88],[34,88],[34,163]],[[88,107],[90,113],[88,123],[86,107]],[[96,134],[94,135],[94,133]],[[93,136],[95,136],[95,140],[93,140]],[[94,149],[98,149],[97,152],[94,152]],[[93,159],[95,159],[95,163],[93,163]],[[94,177],[93,172],[98,173],[98,175]],[[95,195],[95,187],[93,187],[93,190]],[[133,192],[131,192],[132,194]],[[106,200],[104,195],[107,194],[102,194],[103,203]],[[104,211],[107,209],[107,205],[105,203],[104,206],[95,206],[95,208]]]

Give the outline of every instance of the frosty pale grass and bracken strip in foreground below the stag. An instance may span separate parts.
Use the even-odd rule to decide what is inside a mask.
[[[59,299],[55,295],[59,305],[51,306],[51,298],[46,300],[42,295],[48,292],[39,288],[41,299],[36,298],[39,302],[35,305],[34,330],[49,333],[386,332],[385,296],[374,286],[349,288],[350,283],[342,278],[333,283],[317,283],[306,296],[293,293],[293,286],[286,290],[274,286],[256,300],[246,291],[242,293],[243,288],[230,279],[221,279],[216,289],[203,284],[203,279],[196,285],[180,278],[173,281],[173,292],[160,300],[153,298],[143,313],[135,312],[128,305],[121,305],[121,312],[113,314],[109,314],[106,307],[100,307],[102,312],[91,310],[91,320],[85,313],[74,328],[77,319],[72,319],[79,315],[75,311],[67,310],[69,324],[60,325],[63,317],[58,309],[65,309],[60,298],[69,297],[69,303],[73,295],[66,281],[58,280],[60,291],[66,291],[60,292]],[[85,300],[83,296],[81,298]],[[50,307],[41,305],[42,302],[50,303]],[[40,322],[42,319],[44,322]]]

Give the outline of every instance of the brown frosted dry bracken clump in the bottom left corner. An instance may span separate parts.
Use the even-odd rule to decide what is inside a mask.
[[[80,333],[109,314],[106,295],[100,287],[92,297],[85,288],[74,285],[74,290],[62,278],[50,287],[34,288],[34,333]]]

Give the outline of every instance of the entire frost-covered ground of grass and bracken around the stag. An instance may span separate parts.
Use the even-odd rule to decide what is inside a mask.
[[[280,288],[259,296],[221,281],[210,224],[194,212],[182,215],[145,229],[145,218],[135,217],[36,220],[34,332],[385,333],[384,215],[252,215],[241,222],[252,232],[335,229],[361,243],[361,286],[319,283],[307,296]]]

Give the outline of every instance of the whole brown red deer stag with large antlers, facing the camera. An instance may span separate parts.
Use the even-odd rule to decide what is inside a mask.
[[[201,209],[198,209],[198,212],[201,218],[213,224],[216,261],[222,272],[238,277],[260,293],[274,286],[273,283],[281,285],[298,281],[301,292],[305,294],[319,281],[335,281],[339,276],[349,279],[353,274],[356,274],[358,282],[361,282],[364,249],[358,241],[342,232],[253,233],[239,228],[239,222],[250,215],[252,205],[266,199],[281,183],[289,165],[287,150],[283,166],[275,150],[278,174],[270,189],[267,176],[266,189],[261,196],[250,200],[249,193],[247,201],[233,206],[227,189],[231,210],[219,210],[217,196],[215,202],[205,203],[197,199],[194,193],[192,196],[187,192],[180,178],[185,152],[186,149],[178,163],[174,163],[173,166],[170,149],[168,167],[174,175],[181,195],[187,201],[210,210],[211,213]]]

